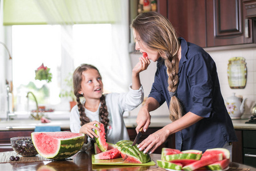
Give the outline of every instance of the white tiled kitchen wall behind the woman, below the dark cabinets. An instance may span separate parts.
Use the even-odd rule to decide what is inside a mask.
[[[243,98],[247,98],[245,101],[245,112],[242,116],[242,119],[249,118],[250,108],[256,101],[256,48],[236,48],[232,50],[216,50],[214,48],[207,48],[206,51],[212,56],[215,60],[220,88],[222,91],[223,98],[226,99],[235,93],[236,96],[242,96]],[[132,60],[132,66],[138,62],[138,58],[141,56],[140,53],[130,54]],[[227,64],[229,63],[229,59],[233,57],[243,57],[245,58],[246,67],[247,67],[247,83],[246,87],[243,89],[231,89],[229,87],[229,82],[227,79]],[[148,96],[154,75],[156,71],[156,63],[151,62],[148,67],[148,70],[141,72],[140,79],[141,84],[144,88],[145,97]],[[141,105],[130,112],[130,116],[137,116]],[[162,107],[157,109],[156,111],[151,112],[152,116],[168,116],[168,107],[167,104],[164,103]]]

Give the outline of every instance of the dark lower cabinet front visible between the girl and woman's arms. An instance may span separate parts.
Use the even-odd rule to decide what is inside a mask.
[[[152,133],[158,131],[161,128],[148,128],[148,130],[143,133],[139,139],[139,143],[141,143],[141,141],[143,141],[144,139],[146,139],[149,135],[151,135]],[[127,128],[128,131],[128,135],[131,141],[135,140],[135,137],[137,136],[137,132],[135,130],[135,128]],[[138,144],[139,144],[138,143]],[[162,148],[173,148],[175,149],[175,134],[172,134],[171,136],[169,136],[166,140],[166,142],[164,142],[162,145],[160,145],[155,152],[156,154],[161,154],[162,152]]]

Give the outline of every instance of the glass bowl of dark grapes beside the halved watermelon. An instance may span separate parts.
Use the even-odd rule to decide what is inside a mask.
[[[29,157],[38,154],[31,137],[13,137],[11,138],[11,147],[21,156]]]

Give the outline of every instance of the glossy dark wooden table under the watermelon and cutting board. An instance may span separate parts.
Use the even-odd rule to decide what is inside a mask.
[[[160,154],[151,154],[153,161],[159,160],[161,158]],[[1,159],[0,159],[1,160]],[[65,161],[34,161],[34,162],[11,162],[0,164],[0,170],[101,170],[101,171],[127,171],[127,170],[157,170],[163,171],[165,169],[158,168],[157,165],[154,166],[131,166],[131,165],[92,165],[92,154],[79,152],[72,157],[72,160]],[[230,168],[228,170],[237,171],[255,171],[256,168],[231,162]]]

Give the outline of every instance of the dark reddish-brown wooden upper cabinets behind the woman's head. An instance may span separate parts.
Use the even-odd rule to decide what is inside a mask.
[[[158,12],[166,16],[179,36],[201,47],[254,43],[256,10],[248,0],[160,0]],[[255,0],[253,1],[254,3]],[[250,7],[249,7],[250,4]],[[246,6],[247,5],[247,6]],[[246,13],[246,8],[249,14]],[[255,14],[256,15],[256,14]]]

